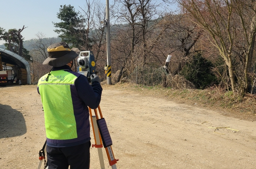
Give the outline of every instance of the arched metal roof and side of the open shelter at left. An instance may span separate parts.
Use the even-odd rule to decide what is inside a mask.
[[[31,84],[30,78],[30,66],[29,62],[25,60],[23,57],[19,56],[12,51],[6,50],[4,48],[0,48],[0,53],[2,57],[2,62],[6,63],[7,66],[15,66],[17,65],[20,68],[26,69],[27,71],[27,84]]]

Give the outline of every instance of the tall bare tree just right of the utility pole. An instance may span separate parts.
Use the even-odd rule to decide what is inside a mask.
[[[112,41],[117,42],[111,43],[118,44],[113,46],[113,50],[119,51],[119,60],[122,60],[119,77],[127,61],[130,62],[129,65],[137,65],[135,62],[138,61],[142,65],[148,64],[151,58],[151,45],[155,45],[151,43],[151,33],[161,17],[162,11],[159,8],[163,5],[156,0],[115,0],[112,16],[120,26],[116,26],[113,33],[115,38]],[[151,45],[148,46],[148,43]]]

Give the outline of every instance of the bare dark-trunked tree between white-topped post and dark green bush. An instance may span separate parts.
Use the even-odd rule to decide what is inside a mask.
[[[152,46],[155,50],[150,48],[150,51],[158,52],[164,58],[173,54],[173,74],[178,74],[195,52],[202,51],[196,44],[203,30],[191,19],[183,14],[166,14],[156,27],[158,34]]]

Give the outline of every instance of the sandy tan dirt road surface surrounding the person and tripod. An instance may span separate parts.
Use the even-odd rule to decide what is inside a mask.
[[[255,121],[104,86],[100,107],[118,169],[256,168]],[[0,87],[0,169],[38,167],[45,141],[41,108],[36,86]],[[234,130],[214,133],[208,127]],[[96,148],[91,148],[91,169],[100,169]]]

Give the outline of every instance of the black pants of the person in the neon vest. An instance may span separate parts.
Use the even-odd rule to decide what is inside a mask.
[[[49,169],[89,169],[91,141],[71,147],[46,147]]]

